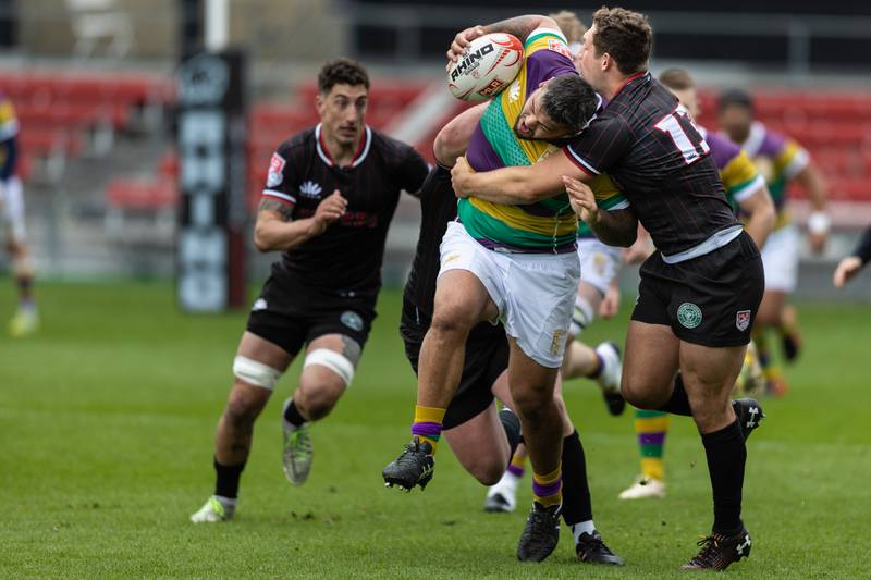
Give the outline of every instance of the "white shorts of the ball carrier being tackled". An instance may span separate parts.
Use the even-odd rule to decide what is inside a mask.
[[[499,309],[499,320],[520,349],[542,367],[563,363],[580,263],[567,254],[508,254],[476,242],[459,222],[447,224],[439,277],[451,270],[475,274]]]

